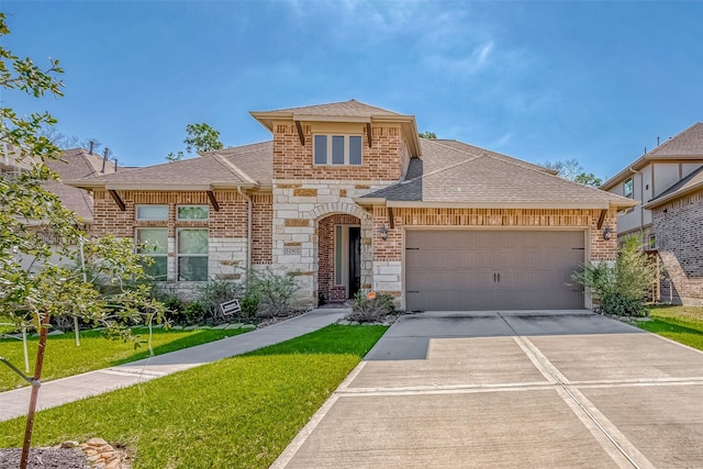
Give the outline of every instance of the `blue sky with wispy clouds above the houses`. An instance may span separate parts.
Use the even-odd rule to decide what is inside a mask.
[[[5,92],[121,165],[186,125],[268,139],[248,114],[357,99],[420,131],[606,178],[703,121],[703,2],[8,1],[3,46],[58,58],[66,97]]]

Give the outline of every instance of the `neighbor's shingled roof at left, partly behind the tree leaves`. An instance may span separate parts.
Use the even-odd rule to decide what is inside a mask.
[[[58,196],[64,206],[76,212],[83,222],[92,222],[92,196],[65,181],[100,175],[103,158],[83,148],[72,148],[64,150],[58,159],[46,160],[46,166],[58,174],[60,180],[45,182],[44,188]],[[107,163],[104,174],[114,171],[114,165]]]

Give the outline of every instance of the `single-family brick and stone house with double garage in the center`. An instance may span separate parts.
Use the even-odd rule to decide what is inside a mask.
[[[183,297],[252,268],[295,275],[301,306],[368,289],[406,310],[581,309],[571,273],[614,259],[635,205],[355,100],[252,115],[272,141],[70,181],[93,232],[150,242]]]

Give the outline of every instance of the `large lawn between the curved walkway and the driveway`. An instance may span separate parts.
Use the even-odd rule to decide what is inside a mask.
[[[332,325],[244,356],[40,412],[35,446],[100,436],[134,468],[267,468],[383,335]],[[22,443],[24,418],[0,423]]]

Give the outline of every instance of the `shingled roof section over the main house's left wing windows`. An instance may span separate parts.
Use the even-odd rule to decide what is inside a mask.
[[[215,190],[270,186],[272,142],[204,153],[196,158],[75,179],[71,186],[107,190]]]

